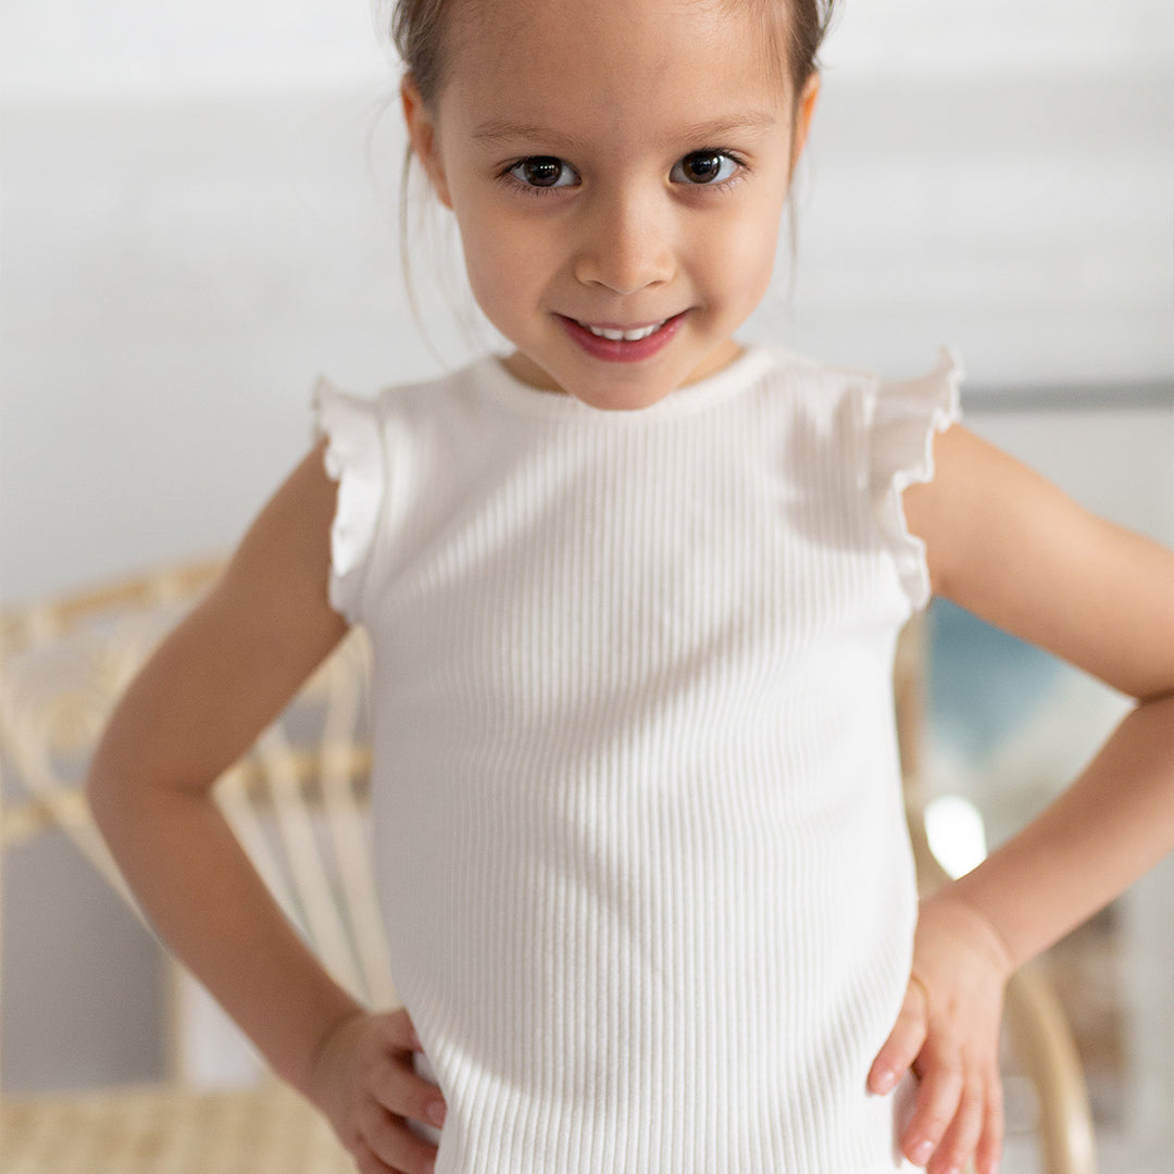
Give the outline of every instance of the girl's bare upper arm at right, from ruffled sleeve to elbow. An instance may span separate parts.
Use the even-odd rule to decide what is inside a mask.
[[[904,493],[935,594],[1135,697],[1174,691],[1174,552],[954,425]]]

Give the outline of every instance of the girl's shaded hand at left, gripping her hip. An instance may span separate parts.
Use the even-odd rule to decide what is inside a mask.
[[[349,1016],[326,1033],[310,1073],[310,1099],[362,1174],[432,1174],[437,1147],[406,1119],[443,1125],[444,1098],[417,1074],[420,1041],[407,1011]]]

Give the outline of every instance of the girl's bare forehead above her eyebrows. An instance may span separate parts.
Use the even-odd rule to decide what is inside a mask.
[[[468,133],[542,124],[568,140],[612,143],[747,115],[785,127],[789,94],[765,67],[769,34],[757,8],[729,0],[465,0],[446,40],[441,121]]]

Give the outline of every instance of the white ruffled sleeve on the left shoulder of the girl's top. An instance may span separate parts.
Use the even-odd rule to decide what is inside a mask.
[[[330,529],[330,606],[357,623],[386,484],[378,405],[319,379],[313,411],[315,432],[329,441],[326,475],[338,481]]]

